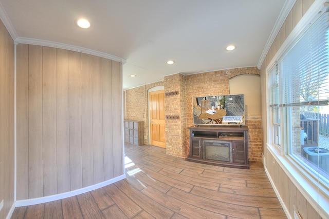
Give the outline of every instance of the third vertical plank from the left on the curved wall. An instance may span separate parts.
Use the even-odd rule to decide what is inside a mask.
[[[43,47],[43,183],[44,196],[57,194],[56,49]]]

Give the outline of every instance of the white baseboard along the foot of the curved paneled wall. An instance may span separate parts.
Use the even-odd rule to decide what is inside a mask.
[[[31,198],[31,199],[27,199],[27,200],[19,200],[14,203],[14,206],[22,207],[22,206],[37,205],[37,204],[41,204],[41,203],[61,200],[63,198],[67,198],[67,197],[79,195],[79,194],[82,194],[85,192],[93,191],[95,189],[99,189],[101,187],[104,187],[104,186],[113,184],[115,182],[118,182],[120,180],[123,180],[124,178],[126,178],[125,174],[112,178],[111,180],[104,181],[102,183],[98,183],[98,184],[88,186],[88,187],[85,187],[82,189],[77,189],[74,191],[64,192],[64,193],[56,194],[56,195],[49,195],[49,196],[45,196],[45,197]]]

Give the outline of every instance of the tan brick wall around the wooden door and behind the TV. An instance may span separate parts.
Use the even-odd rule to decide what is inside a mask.
[[[229,79],[243,74],[257,74],[257,67],[212,71],[193,75],[174,74],[141,87],[126,90],[126,119],[144,121],[144,144],[149,144],[149,104],[148,90],[164,86],[165,93],[178,91],[176,95],[165,96],[166,116],[175,115],[179,119],[166,119],[167,154],[189,156],[189,130],[193,125],[192,97],[229,94]],[[261,116],[246,116],[248,132],[249,161],[262,160]]]

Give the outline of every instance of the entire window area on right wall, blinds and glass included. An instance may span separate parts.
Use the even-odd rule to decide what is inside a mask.
[[[324,12],[269,71],[268,87],[272,143],[281,146],[286,155],[326,187],[329,186],[328,75],[329,12]]]

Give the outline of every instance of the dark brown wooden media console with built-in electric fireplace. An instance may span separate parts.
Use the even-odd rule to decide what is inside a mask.
[[[188,161],[249,169],[247,126],[193,126]]]

